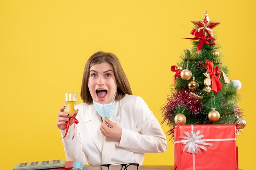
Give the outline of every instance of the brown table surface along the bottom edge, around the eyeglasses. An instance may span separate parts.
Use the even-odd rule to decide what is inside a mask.
[[[100,170],[101,166],[86,166],[87,170]],[[174,170],[174,166],[139,166],[138,170]],[[118,167],[111,167],[111,170],[120,170]],[[239,169],[241,170],[241,169]]]

